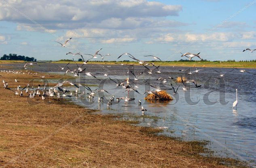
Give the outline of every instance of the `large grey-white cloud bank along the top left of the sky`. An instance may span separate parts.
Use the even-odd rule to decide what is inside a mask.
[[[122,22],[126,22],[129,18],[139,22],[135,24],[136,26],[143,24],[144,18],[147,23],[147,18],[178,16],[182,10],[180,5],[166,5],[147,0],[77,0],[75,2],[66,0],[61,3],[51,0],[7,0],[6,2],[47,29],[78,29],[99,23],[113,24],[115,21],[122,25]],[[13,9],[8,5],[0,3],[0,20],[31,23],[18,12],[11,11]],[[106,24],[106,26],[110,25]],[[114,24],[113,27],[118,27],[118,24]]]

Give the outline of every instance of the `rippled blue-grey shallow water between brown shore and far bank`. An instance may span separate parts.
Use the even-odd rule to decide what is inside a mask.
[[[11,66],[11,64],[6,66]],[[22,66],[23,64],[18,64],[15,68],[21,68]],[[123,81],[128,76],[133,79],[131,73],[127,74],[127,66],[111,65],[111,67],[108,67],[107,65],[91,64],[85,66],[87,67],[87,72],[108,73],[108,77],[115,80]],[[71,69],[76,68],[76,65],[70,65],[69,67]],[[171,82],[177,88],[178,85],[182,84],[170,80],[165,84],[161,83],[159,85],[159,81],[156,81],[156,79],[169,76],[176,78],[182,75],[189,79],[195,79],[202,86],[195,88],[193,83],[188,83],[186,85],[190,88],[187,92],[184,92],[181,87],[176,95],[173,95],[172,90],[168,91],[175,99],[171,102],[147,102],[144,100],[145,95],[143,93],[145,90],[150,90],[150,87],[143,84],[139,85],[138,88],[140,94],[129,93],[129,97],[134,97],[135,101],[125,104],[121,100],[118,104],[114,102],[112,106],[107,107],[106,102],[112,95],[123,97],[127,96],[127,92],[123,93],[125,90],[122,87],[116,88],[115,83],[107,80],[108,77],[104,77],[103,74],[95,74],[101,81],[81,75],[77,79],[70,80],[77,83],[93,84],[95,86],[91,87],[92,90],[97,88],[96,85],[99,85],[110,94],[100,93],[99,96],[104,96],[105,102],[101,104],[97,102],[97,96],[91,101],[85,96],[83,99],[73,98],[73,100],[87,108],[99,109],[104,114],[125,114],[124,120],[140,120],[140,125],[164,127],[164,133],[167,135],[182,137],[184,140],[209,140],[212,142],[209,147],[214,149],[218,155],[227,155],[249,161],[254,166],[256,165],[255,75],[234,70],[220,78],[214,69],[223,73],[231,69],[200,68],[206,71],[199,71],[199,73],[188,76],[189,70],[187,72],[179,71],[188,68],[172,66],[164,67],[161,74],[148,75],[143,66],[131,66],[129,68],[135,71],[135,74],[144,72],[138,78],[139,81],[137,83],[147,80],[156,86],[171,88]],[[33,66],[28,69],[52,73],[61,72],[56,64],[42,64],[41,67]],[[194,70],[195,68],[191,68],[191,71]],[[256,73],[256,69],[248,69],[248,71]],[[61,74],[63,73],[61,72]],[[80,91],[85,91],[84,88],[79,89],[81,89]],[[237,110],[233,111],[232,104],[236,100],[235,89],[238,89],[238,106]],[[148,110],[145,116],[142,116],[138,100],[142,100],[142,106]]]

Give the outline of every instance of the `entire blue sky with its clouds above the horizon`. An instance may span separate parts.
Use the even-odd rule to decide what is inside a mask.
[[[256,51],[242,51],[256,49],[255,8],[256,0],[0,0],[0,56],[60,60],[103,48],[106,60],[252,60]],[[55,42],[70,37],[67,48]]]

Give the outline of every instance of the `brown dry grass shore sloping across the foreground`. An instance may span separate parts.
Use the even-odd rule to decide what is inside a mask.
[[[6,75],[11,87],[17,78]],[[35,85],[38,84],[34,83]],[[5,168],[227,168],[228,158],[199,155],[200,142],[158,136],[157,129],[136,127],[116,116],[91,114],[63,100],[15,96],[0,87],[0,167]],[[225,166],[228,163],[229,166]]]

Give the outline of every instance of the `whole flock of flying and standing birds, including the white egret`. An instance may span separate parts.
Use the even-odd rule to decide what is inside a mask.
[[[56,42],[61,44],[62,47],[66,47],[66,45],[67,45],[68,41],[70,41],[70,39],[72,39],[72,38],[67,39],[66,41],[64,41],[63,44],[61,44],[57,41]],[[254,50],[250,50],[249,48],[247,48],[247,49],[243,50],[243,52],[246,51],[246,50],[249,50],[250,52],[254,51]],[[66,64],[65,66],[63,66],[63,67],[59,66],[59,65],[57,65],[57,66],[59,68],[61,68],[61,71],[65,71],[64,75],[66,75],[67,73],[71,73],[71,74],[74,74],[75,77],[78,77],[81,74],[84,74],[88,77],[93,77],[93,78],[100,81],[101,79],[99,79],[95,75],[95,74],[100,74],[100,73],[91,73],[90,71],[87,71],[87,67],[85,67],[85,64],[87,64],[87,62],[89,60],[97,58],[97,56],[101,56],[102,59],[104,59],[106,56],[111,56],[111,54],[101,54],[100,53],[101,51],[102,51],[102,48],[97,50],[94,54],[80,54],[80,52],[74,54],[72,52],[68,52],[68,53],[66,53],[66,55],[72,54],[73,56],[81,56],[81,58],[83,59],[83,64],[81,66],[79,66],[74,61],[74,58],[73,58],[73,61],[76,64],[76,68],[71,69],[69,67],[70,62],[68,64]],[[192,60],[192,58],[198,57],[200,60],[203,60],[201,58],[201,56],[199,56],[199,54],[200,54],[200,52],[198,54],[192,54],[190,52],[186,52],[186,53],[182,54],[182,57],[185,56],[185,57],[188,58],[188,60]],[[85,60],[83,58],[83,55],[91,56],[91,58],[89,58],[88,60]],[[154,60],[144,61],[144,60],[139,60],[139,59],[135,58],[135,56],[133,56],[132,54],[129,54],[129,53],[125,52],[125,53],[121,54],[120,56],[118,56],[117,59],[121,58],[122,56],[128,56],[129,58],[137,61],[139,65],[141,65],[145,68],[145,70],[146,70],[145,72],[148,75],[161,74],[161,71],[163,70],[163,68],[160,69],[159,68],[160,66],[157,66],[153,63],[155,61],[162,61],[157,56],[146,55],[144,57],[151,57]],[[24,69],[26,69],[28,65],[34,65],[34,64],[40,66],[37,62],[28,62],[28,63],[25,63]],[[119,63],[116,63],[116,64],[119,64]],[[131,66],[131,64],[119,64],[119,65],[121,65],[121,66]],[[151,66],[152,68],[149,68],[148,65],[152,65]],[[230,73],[230,72],[234,71],[235,69],[237,69],[237,68],[234,68],[233,70],[228,71],[226,73]],[[242,69],[238,69],[238,70],[241,73],[250,73],[250,72],[242,70]],[[179,71],[186,72],[187,70],[182,69],[182,70],[179,70]],[[192,72],[189,71],[188,75],[193,75],[195,73],[199,73],[200,71],[205,71],[205,69],[197,69],[196,68]],[[216,70],[214,70],[214,71],[216,71]],[[29,71],[24,72],[24,71],[10,71],[10,70],[6,71],[6,70],[4,70],[4,71],[1,71],[1,72],[2,73],[13,73],[13,74],[28,73],[29,75],[32,75],[33,77],[40,77],[40,76],[38,76],[37,73],[30,73]],[[220,77],[224,77],[224,75],[226,74],[226,73],[221,73],[219,71],[216,71],[216,72],[220,74]],[[141,75],[144,75],[145,74],[144,72],[139,72],[137,74],[134,71],[129,70],[129,68],[128,68],[127,73],[133,75],[133,79],[130,79],[129,77],[127,77],[124,81],[121,81],[121,82],[116,81],[116,80],[111,79],[110,77],[108,77],[108,75],[111,75],[111,74],[104,73],[104,77],[108,77],[108,79],[110,79],[113,83],[115,83],[116,87],[123,87],[125,89],[123,93],[125,93],[127,91],[127,96],[116,97],[116,102],[117,103],[120,102],[120,100],[124,100],[125,103],[128,103],[130,101],[134,101],[135,100],[134,97],[129,97],[129,91],[134,91],[134,92],[140,94],[139,91],[137,90],[137,88],[139,88],[139,85],[142,85],[142,84],[149,85],[151,88],[153,88],[151,90],[145,91],[144,94],[148,93],[148,94],[154,94],[154,95],[157,95],[157,96],[158,96],[159,91],[162,91],[162,90],[173,90],[173,95],[176,95],[177,92],[178,92],[178,89],[180,87],[180,85],[178,85],[178,87],[175,88],[175,86],[171,83],[171,80],[174,79],[173,77],[167,77],[167,78],[158,77],[157,81],[160,81],[162,83],[167,83],[168,82],[168,83],[171,84],[171,87],[169,87],[169,88],[160,88],[158,86],[153,85],[152,83],[149,83],[148,81],[142,81],[142,79],[140,79],[139,77]],[[250,74],[256,75],[254,73],[250,73]],[[54,77],[50,74],[48,74],[48,76],[49,77]],[[46,76],[44,75],[44,76],[41,76],[41,77],[44,78]],[[195,88],[201,87],[201,85],[199,85],[195,80],[184,81],[182,76],[180,76],[180,78],[181,78],[181,81],[182,81],[182,90],[183,91],[188,90],[188,87],[187,87],[188,83],[193,83]],[[15,79],[15,83],[19,83],[19,80]],[[71,91],[68,87],[64,87],[64,84],[68,84],[72,87],[76,87],[75,91]],[[61,98],[61,97],[84,96],[84,95],[87,95],[89,100],[93,100],[93,98],[95,97],[95,95],[97,95],[97,93],[108,93],[108,94],[110,94],[106,89],[96,88],[96,89],[92,90],[86,84],[80,84],[80,83],[76,84],[76,83],[72,83],[71,81],[63,81],[63,82],[57,83],[54,87],[48,87],[47,84],[44,83],[44,84],[38,85],[36,88],[34,88],[33,86],[30,87],[30,85],[27,84],[25,87],[21,87],[20,85],[18,85],[16,89],[13,89],[13,88],[11,89],[11,88],[8,87],[8,83],[4,80],[3,80],[3,85],[4,85],[4,89],[8,89],[10,91],[13,91],[15,93],[15,95],[24,96],[23,91],[26,89],[25,94],[27,94],[28,97],[34,98],[34,97],[38,96],[38,97],[41,97],[42,100],[45,100],[46,97]],[[78,88],[80,88],[80,91],[78,91]],[[82,91],[83,90],[82,88],[84,88],[85,90]],[[86,94],[86,92],[87,92],[87,94]],[[236,89],[236,93],[237,93],[237,89]],[[114,95],[108,100],[107,106],[108,107],[111,106],[113,101],[114,101]],[[100,104],[102,102],[104,102],[104,97],[98,97],[98,103]],[[138,101],[138,105],[141,106],[142,115],[144,115],[144,113],[147,112],[147,110],[142,106],[141,100]],[[234,108],[237,108],[237,100],[233,103],[233,109]]]

